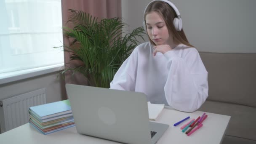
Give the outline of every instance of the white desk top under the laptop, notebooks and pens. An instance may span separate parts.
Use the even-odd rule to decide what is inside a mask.
[[[170,127],[157,144],[221,144],[230,116],[206,113],[208,117],[203,127],[190,136],[181,132],[180,127],[192,118],[202,116],[203,112],[179,112],[165,108],[157,121],[169,124]],[[174,123],[190,116],[190,119],[178,126]],[[77,133],[76,128],[68,128],[48,135],[38,132],[29,123],[0,134],[1,144],[120,144],[114,141],[98,139]]]

